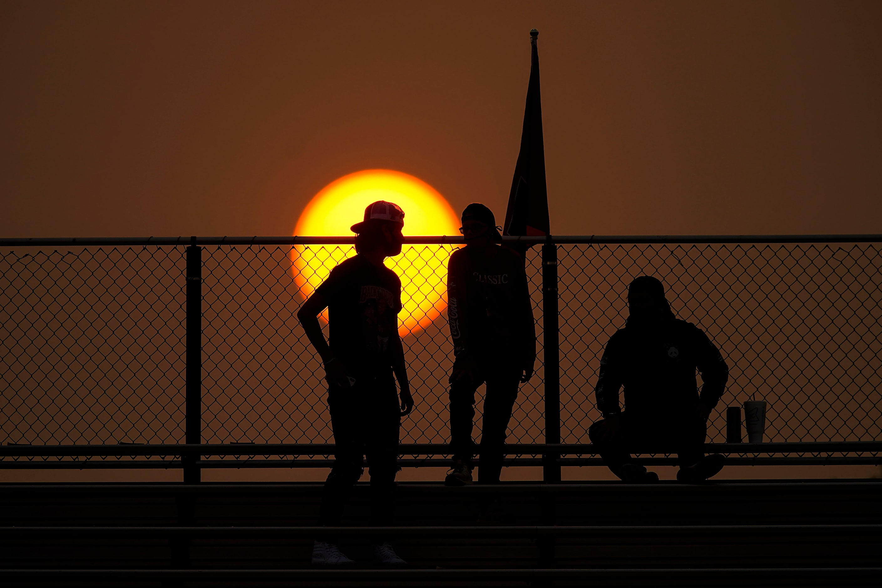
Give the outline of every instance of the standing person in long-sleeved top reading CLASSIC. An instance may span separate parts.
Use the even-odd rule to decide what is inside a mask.
[[[447,318],[456,360],[450,376],[452,470],[449,486],[472,483],[475,390],[487,383],[481,434],[482,484],[499,481],[503,445],[519,382],[533,376],[536,333],[524,260],[507,247],[490,208],[462,213],[466,246],[447,268]]]

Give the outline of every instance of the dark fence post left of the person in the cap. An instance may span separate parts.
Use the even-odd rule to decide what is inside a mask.
[[[202,247],[191,237],[187,247],[187,398],[185,442],[202,442]],[[183,481],[196,484],[201,473],[198,455],[181,456]]]

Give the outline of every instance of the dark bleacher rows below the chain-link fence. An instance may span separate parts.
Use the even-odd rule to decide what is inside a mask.
[[[58,573],[78,569],[82,585],[241,585],[243,570],[280,585],[869,585],[882,567],[880,481],[406,483],[402,526],[384,529],[364,526],[369,490],[329,530],[312,526],[316,484],[0,485],[0,581],[69,585]],[[321,532],[365,569],[310,569]],[[377,533],[411,569],[370,569]],[[818,563],[835,582],[804,573]]]

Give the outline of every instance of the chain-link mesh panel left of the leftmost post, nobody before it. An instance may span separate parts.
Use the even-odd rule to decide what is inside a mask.
[[[183,443],[184,249],[0,254],[4,443]]]

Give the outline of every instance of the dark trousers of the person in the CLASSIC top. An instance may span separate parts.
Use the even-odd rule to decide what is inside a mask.
[[[461,366],[457,358],[454,368]],[[512,362],[501,358],[474,360],[473,378],[452,381],[450,385],[450,433],[453,461],[471,464],[475,453],[472,428],[475,418],[475,390],[487,383],[484,396],[483,427],[481,432],[481,468],[479,481],[483,484],[499,481],[502,472],[503,445],[508,421],[512,418],[514,401],[518,397],[520,373]]]

